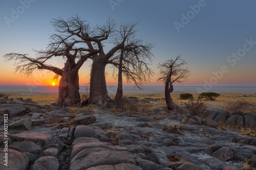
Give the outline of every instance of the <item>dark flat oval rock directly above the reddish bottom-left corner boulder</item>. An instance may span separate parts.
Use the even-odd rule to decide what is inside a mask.
[[[24,152],[29,152],[32,154],[39,154],[42,150],[42,148],[31,141],[22,141],[22,142],[12,142],[11,145],[18,147]]]

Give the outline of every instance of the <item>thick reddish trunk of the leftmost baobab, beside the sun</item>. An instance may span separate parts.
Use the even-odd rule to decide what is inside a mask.
[[[66,62],[59,81],[59,106],[80,107],[79,76],[78,72],[73,72],[72,70],[68,62]]]

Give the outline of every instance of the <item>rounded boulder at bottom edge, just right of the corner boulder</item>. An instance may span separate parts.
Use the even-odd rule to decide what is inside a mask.
[[[44,156],[37,159],[31,170],[58,170],[59,169],[59,161],[57,158],[53,156]]]

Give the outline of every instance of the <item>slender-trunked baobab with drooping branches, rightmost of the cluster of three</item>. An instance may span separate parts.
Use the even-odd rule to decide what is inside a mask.
[[[138,22],[137,22],[138,23]],[[141,85],[150,80],[153,71],[151,64],[153,54],[151,52],[153,44],[143,42],[141,38],[136,38],[134,28],[137,23],[124,23],[121,25],[118,37],[114,40],[115,44],[125,40],[121,49],[110,59],[113,64],[113,77],[118,78],[117,92],[114,99],[114,106],[122,106],[123,88],[122,76],[126,78],[127,83],[134,83],[135,87],[141,89]]]

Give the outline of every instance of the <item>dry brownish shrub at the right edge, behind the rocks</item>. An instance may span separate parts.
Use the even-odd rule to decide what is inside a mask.
[[[232,114],[240,114],[243,112],[254,113],[255,109],[255,104],[243,100],[238,100],[234,103],[228,103],[225,106],[225,111],[228,111]]]

